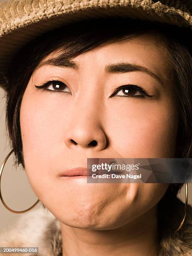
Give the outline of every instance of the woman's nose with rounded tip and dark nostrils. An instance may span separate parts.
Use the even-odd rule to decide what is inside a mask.
[[[93,102],[92,102],[92,105]],[[73,112],[71,123],[65,131],[64,143],[68,148],[92,148],[102,151],[107,138],[102,128],[101,115],[96,105],[82,107]]]

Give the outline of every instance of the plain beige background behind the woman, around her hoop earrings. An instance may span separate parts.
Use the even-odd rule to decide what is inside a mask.
[[[5,127],[5,93],[0,88],[0,166],[10,150]],[[3,169],[1,191],[6,204],[18,211],[26,210],[38,199],[28,182],[25,171],[13,166],[13,154]],[[184,196],[183,187],[181,193],[183,201]],[[189,203],[192,205],[192,184],[189,184]],[[36,207],[40,207],[40,203]],[[0,230],[11,225],[21,214],[9,212],[0,201]]]

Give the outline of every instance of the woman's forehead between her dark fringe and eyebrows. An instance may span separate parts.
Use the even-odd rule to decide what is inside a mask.
[[[65,50],[64,47],[63,50]],[[168,79],[173,73],[173,69],[169,64],[167,53],[166,45],[160,36],[142,34],[121,41],[102,44],[72,59],[77,63],[77,68],[74,69],[75,72],[94,67],[104,69],[110,63],[129,62],[146,67],[157,75]],[[59,50],[54,51],[46,56],[40,62],[40,65],[58,56]],[[65,58],[65,55],[63,54],[61,58]]]

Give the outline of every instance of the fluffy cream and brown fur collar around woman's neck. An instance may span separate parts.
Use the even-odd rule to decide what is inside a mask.
[[[184,204],[177,199],[177,215]],[[172,220],[175,221],[174,218]],[[180,219],[181,220],[181,219]],[[179,222],[178,222],[179,223]],[[159,256],[192,256],[192,207],[188,206],[184,225],[178,232],[162,233]],[[62,256],[62,237],[59,220],[42,205],[23,213],[10,229],[0,236],[3,247],[38,247],[38,254],[26,256]],[[13,254],[6,254],[7,256]],[[23,256],[22,254],[17,254]]]

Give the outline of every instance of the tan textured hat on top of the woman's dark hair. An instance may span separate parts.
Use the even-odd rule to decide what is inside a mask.
[[[36,36],[78,20],[121,16],[192,26],[192,0],[10,0],[0,4],[0,86],[13,55]]]

